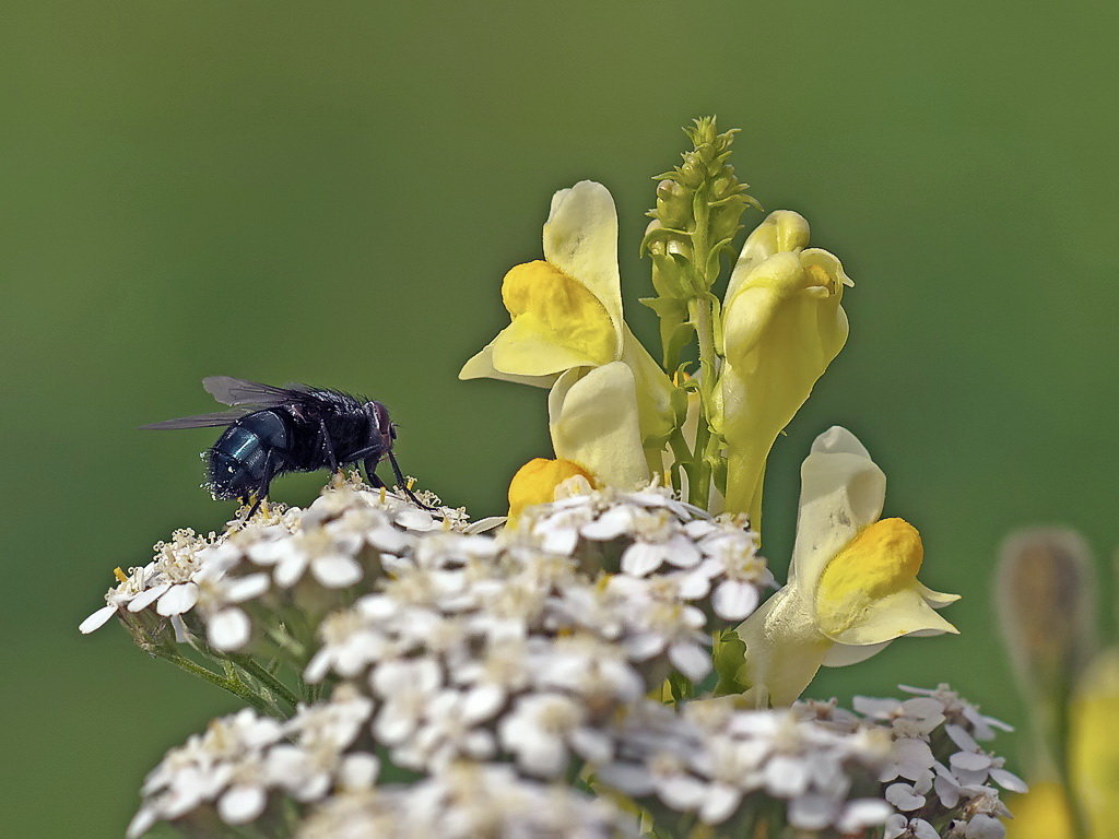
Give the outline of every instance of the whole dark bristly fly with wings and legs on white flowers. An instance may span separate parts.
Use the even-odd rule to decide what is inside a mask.
[[[369,483],[384,487],[376,472],[384,458],[401,489],[413,502],[426,507],[407,488],[396,463],[396,430],[379,402],[307,385],[272,387],[228,376],[203,379],[203,387],[218,402],[237,407],[142,427],[227,426],[205,454],[207,486],[215,498],[247,502],[255,497],[248,518],[279,474],[326,468],[337,472],[339,466],[361,463]]]

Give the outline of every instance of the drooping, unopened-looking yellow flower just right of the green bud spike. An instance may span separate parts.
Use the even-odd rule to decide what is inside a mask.
[[[840,301],[854,283],[808,236],[802,216],[770,214],[746,238],[724,299],[714,425],[727,446],[726,509],[749,512],[755,527],[773,441],[847,340]]]

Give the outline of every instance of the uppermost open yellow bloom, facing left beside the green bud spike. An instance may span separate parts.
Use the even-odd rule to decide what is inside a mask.
[[[618,214],[605,187],[580,181],[555,194],[544,225],[544,260],[509,271],[501,300],[511,322],[463,365],[459,378],[560,387],[570,396],[577,381],[590,377],[589,371],[621,362],[629,369],[631,384],[621,386],[619,374],[608,374],[609,386],[593,388],[598,398],[614,402],[595,405],[595,409],[637,417],[639,456],[631,460],[643,463],[643,449],[660,451],[675,420],[671,383],[622,319]],[[553,394],[549,403],[555,400]],[[575,423],[573,405],[566,413],[567,422]],[[553,415],[553,436],[556,418]],[[560,446],[556,454],[567,456]],[[606,473],[595,470],[595,475],[611,482]],[[647,466],[640,480],[645,479]]]

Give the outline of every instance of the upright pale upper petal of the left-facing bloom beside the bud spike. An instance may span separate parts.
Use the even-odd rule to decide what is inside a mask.
[[[544,225],[544,258],[574,277],[605,307],[614,326],[614,359],[622,351],[622,293],[618,272],[618,211],[601,183],[584,180],[552,197]]]

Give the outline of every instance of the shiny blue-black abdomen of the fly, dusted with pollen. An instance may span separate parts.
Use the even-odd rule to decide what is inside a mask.
[[[267,490],[285,471],[288,430],[274,411],[257,411],[225,430],[207,454],[209,490],[215,498],[247,498]]]

